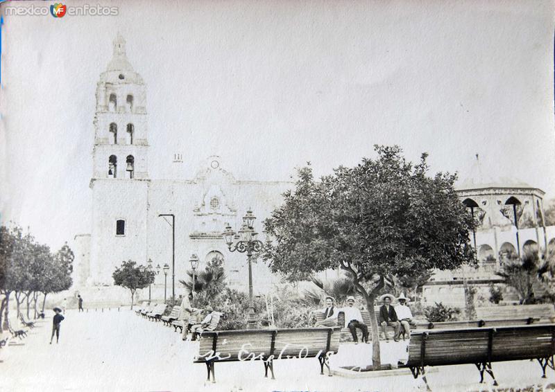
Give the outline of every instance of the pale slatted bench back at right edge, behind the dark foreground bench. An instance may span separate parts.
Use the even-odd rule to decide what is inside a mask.
[[[552,304],[535,305],[506,305],[476,308],[479,320],[529,319],[550,322],[555,318],[555,308]]]

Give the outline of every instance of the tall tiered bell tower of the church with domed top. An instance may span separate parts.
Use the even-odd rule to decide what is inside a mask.
[[[112,285],[122,261],[146,262],[148,140],[146,87],[117,35],[96,84],[89,285]]]

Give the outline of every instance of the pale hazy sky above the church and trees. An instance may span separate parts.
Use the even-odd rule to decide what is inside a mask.
[[[53,248],[90,232],[94,94],[118,32],[146,82],[152,179],[175,153],[187,179],[219,155],[237,179],[289,180],[398,144],[461,179],[479,154],[488,177],[555,197],[552,1],[96,3],[118,15],[4,17],[1,220]]]

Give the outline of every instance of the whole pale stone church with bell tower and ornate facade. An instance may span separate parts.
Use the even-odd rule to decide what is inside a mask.
[[[113,284],[112,273],[123,260],[146,265],[172,265],[172,219],[175,215],[176,296],[182,294],[178,280],[185,279],[191,254],[203,269],[214,256],[222,258],[231,287],[248,287],[245,253],[230,252],[221,233],[226,224],[237,231],[248,209],[258,217],[255,230],[291,188],[291,182],[244,181],[225,170],[220,157],[199,163],[192,179],[153,179],[148,175],[148,114],[144,81],[126,57],[126,42],[118,35],[113,57],[96,87],[94,116],[94,168],[92,227],[75,237],[74,289]],[[176,154],[175,161],[181,157]],[[264,238],[262,238],[264,239]],[[168,297],[171,276],[168,271]],[[155,287],[160,298],[164,276]],[[253,263],[254,291],[278,280],[263,262]]]

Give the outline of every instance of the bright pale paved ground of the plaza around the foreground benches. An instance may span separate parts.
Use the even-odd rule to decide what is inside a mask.
[[[0,350],[0,391],[411,391],[412,376],[321,376],[318,361],[289,359],[275,362],[277,380],[264,379],[260,362],[216,364],[216,384],[205,384],[202,364],[192,364],[194,344],[162,323],[137,317],[129,310],[78,314],[69,310],[62,322],[60,344],[49,344],[51,319],[31,331],[24,346]],[[370,345],[341,346],[368,350]],[[504,387],[545,385],[555,373],[540,378],[536,362],[493,364]],[[355,375],[356,376],[356,375]],[[488,391],[477,384],[473,365],[448,366],[429,373],[434,391]],[[536,390],[534,390],[536,391]]]

